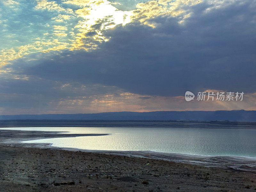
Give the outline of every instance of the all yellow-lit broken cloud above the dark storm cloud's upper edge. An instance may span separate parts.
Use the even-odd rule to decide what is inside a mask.
[[[135,1],[136,9],[123,11],[114,6],[120,3],[111,3],[107,0],[36,0],[34,2],[2,0],[1,2],[2,16],[6,13],[11,17],[6,17],[4,22],[0,21],[0,27],[4,32],[2,41],[6,42],[0,47],[0,66],[33,52],[95,49],[99,43],[109,40],[110,36],[105,36],[104,32],[116,25],[124,26],[130,22],[140,22],[155,27],[155,23],[149,20],[160,15],[172,17],[180,15],[182,22],[183,18],[188,17],[188,14],[181,16],[181,13],[185,12],[183,7],[200,3],[199,0],[151,0],[138,4]],[[33,20],[26,23],[26,15],[23,12],[24,14],[29,12]],[[22,28],[17,31],[20,32],[19,35],[8,30],[12,22],[17,24],[23,22]],[[29,36],[29,33],[33,35]]]

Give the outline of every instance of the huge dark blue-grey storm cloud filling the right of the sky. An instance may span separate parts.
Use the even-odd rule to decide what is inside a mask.
[[[130,23],[105,31],[111,39],[93,51],[34,53],[6,67],[19,75],[117,86],[143,95],[255,92],[255,2],[214,7],[204,1],[191,6],[181,24],[170,16],[151,19],[156,28]]]

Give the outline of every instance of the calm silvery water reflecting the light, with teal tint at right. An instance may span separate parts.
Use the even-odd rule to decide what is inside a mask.
[[[145,127],[24,127],[8,129],[112,134],[25,141],[26,143],[52,143],[54,147],[122,151],[150,150],[206,156],[256,157],[256,130]]]

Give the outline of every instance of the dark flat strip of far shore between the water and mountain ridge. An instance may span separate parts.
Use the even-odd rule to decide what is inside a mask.
[[[0,120],[0,127],[173,127],[256,129],[256,122],[176,120]]]

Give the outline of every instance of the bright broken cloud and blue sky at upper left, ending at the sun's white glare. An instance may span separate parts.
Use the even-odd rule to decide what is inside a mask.
[[[1,11],[0,65],[9,60],[39,51],[56,50],[56,46],[39,46],[19,54],[21,46],[40,41],[58,41],[69,49],[94,49],[109,37],[102,31],[118,24],[130,22],[131,12],[119,11],[110,2],[104,1],[4,1],[7,6]],[[15,6],[15,9],[14,7]],[[60,24],[61,23],[61,24]],[[97,26],[97,27],[96,27]],[[56,32],[59,30],[59,32]],[[94,36],[86,36],[94,30]],[[65,32],[63,32],[65,31]],[[45,35],[47,34],[47,35]],[[60,47],[60,50],[63,46]],[[15,51],[12,51],[15,50]],[[12,51],[12,52],[10,52]],[[8,55],[8,57],[6,57]]]

